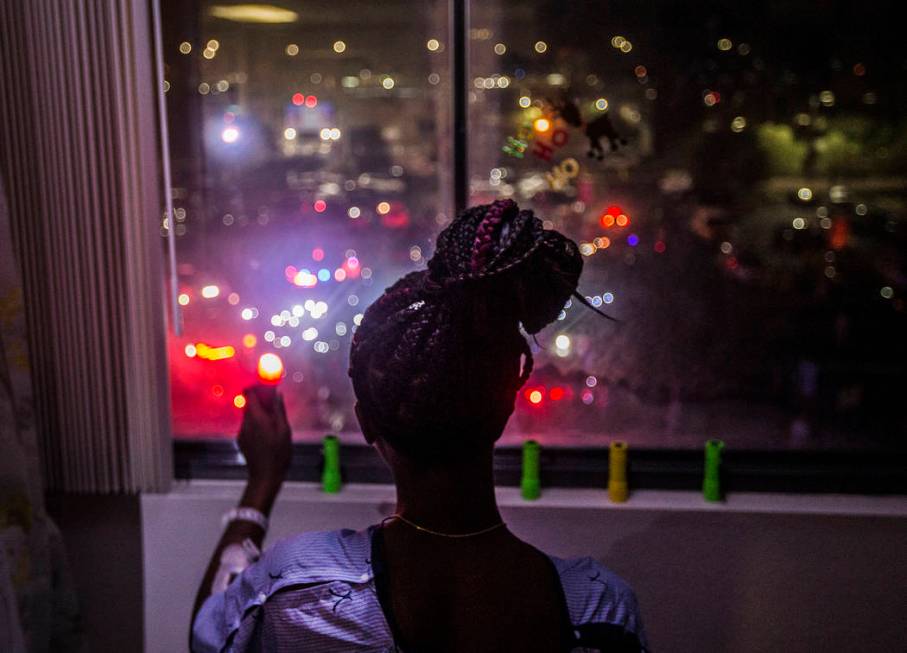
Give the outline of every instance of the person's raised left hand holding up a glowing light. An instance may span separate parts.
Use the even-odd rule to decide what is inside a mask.
[[[276,388],[243,390],[246,408],[237,443],[249,468],[249,484],[277,489],[290,467],[292,432]]]

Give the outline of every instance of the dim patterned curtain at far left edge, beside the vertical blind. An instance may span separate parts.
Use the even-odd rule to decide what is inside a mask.
[[[44,512],[22,284],[0,182],[0,651],[77,651],[75,592]]]

